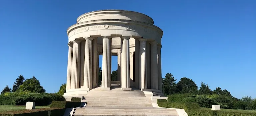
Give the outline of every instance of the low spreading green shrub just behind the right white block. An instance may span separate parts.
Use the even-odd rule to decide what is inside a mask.
[[[183,102],[196,102],[200,107],[212,107],[212,105],[217,104],[212,98],[207,98],[206,96],[189,96],[183,99]]]

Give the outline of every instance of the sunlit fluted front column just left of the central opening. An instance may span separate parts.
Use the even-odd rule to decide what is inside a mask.
[[[111,87],[111,36],[103,37],[101,90]]]

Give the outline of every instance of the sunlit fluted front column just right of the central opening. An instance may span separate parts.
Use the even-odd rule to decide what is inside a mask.
[[[129,44],[129,39],[130,37],[128,36],[123,36],[123,45],[122,45],[122,57],[121,57],[121,80],[122,80],[122,85],[121,89],[122,90],[132,90],[130,88],[130,44]]]

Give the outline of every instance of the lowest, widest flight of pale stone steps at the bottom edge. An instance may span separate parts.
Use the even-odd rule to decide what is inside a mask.
[[[175,109],[153,107],[84,107],[73,116],[178,116]]]

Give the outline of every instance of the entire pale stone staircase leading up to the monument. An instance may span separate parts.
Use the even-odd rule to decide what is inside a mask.
[[[119,85],[111,85],[111,90],[97,87],[89,90],[84,98],[86,107],[75,108],[73,116],[178,116],[175,109],[154,108],[151,98],[135,88],[123,91]]]

